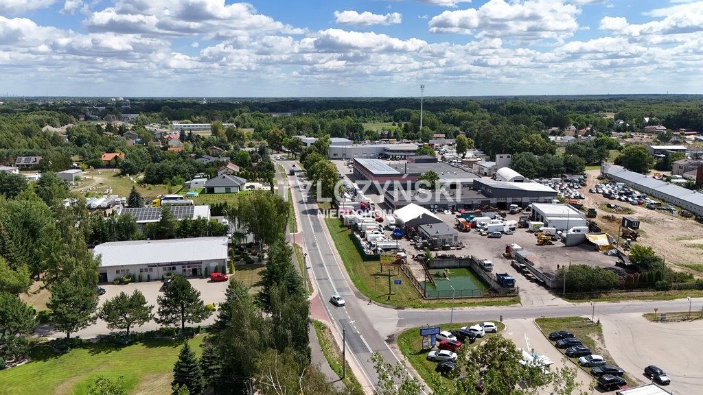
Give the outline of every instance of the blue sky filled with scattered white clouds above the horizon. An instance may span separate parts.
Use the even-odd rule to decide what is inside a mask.
[[[0,93],[703,93],[703,1],[0,0]]]

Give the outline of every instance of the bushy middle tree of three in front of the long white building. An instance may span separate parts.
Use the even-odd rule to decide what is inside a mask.
[[[133,325],[141,326],[154,318],[151,313],[153,309],[153,305],[146,304],[146,298],[140,290],[134,290],[129,295],[120,292],[105,301],[98,310],[98,318],[108,323],[109,329],[125,330],[129,335],[129,328]]]

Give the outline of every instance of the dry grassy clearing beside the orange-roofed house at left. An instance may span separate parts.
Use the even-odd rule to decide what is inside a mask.
[[[132,182],[126,176],[120,176],[119,174],[120,171],[117,169],[115,169],[115,171],[112,171],[112,169],[85,171],[83,173],[84,179],[80,181],[79,185],[72,188],[72,190],[77,192],[85,192],[86,188],[91,188],[90,193],[93,196],[108,194],[128,197],[132,186],[134,186],[146,201],[155,199],[157,195],[171,193],[174,190],[172,186],[167,185],[142,186],[139,183]],[[112,192],[105,193],[106,189],[112,189]]]

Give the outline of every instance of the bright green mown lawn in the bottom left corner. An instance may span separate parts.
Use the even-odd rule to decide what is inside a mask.
[[[189,343],[200,356],[205,335]],[[128,394],[171,394],[174,363],[181,351],[180,342],[146,340],[128,347],[106,343],[84,344],[65,354],[49,347],[34,347],[32,361],[0,372],[0,394],[44,395],[85,394],[98,375],[116,380],[124,377]]]

